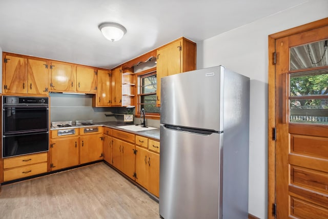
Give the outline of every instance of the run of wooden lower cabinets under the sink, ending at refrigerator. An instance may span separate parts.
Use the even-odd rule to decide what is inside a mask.
[[[159,142],[115,129],[104,132],[104,137],[105,161],[158,197]]]

